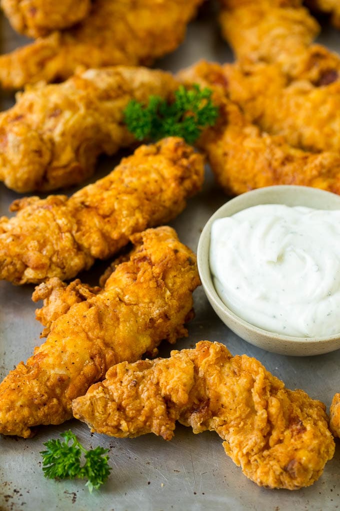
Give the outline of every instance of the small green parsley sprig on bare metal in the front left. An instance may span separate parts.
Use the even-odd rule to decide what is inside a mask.
[[[103,456],[108,449],[96,447],[87,451],[80,444],[72,431],[61,433],[64,440],[50,439],[41,451],[43,458],[42,470],[48,479],[74,479],[86,478],[90,493],[98,489],[109,477],[111,467],[108,464],[108,456]],[[69,445],[69,442],[72,444]],[[84,454],[85,463],[81,466],[81,455]]]

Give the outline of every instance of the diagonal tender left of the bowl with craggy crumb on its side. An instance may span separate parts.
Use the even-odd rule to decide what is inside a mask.
[[[195,254],[170,227],[131,240],[136,247],[129,259],[100,291],[87,288],[84,296],[79,281],[69,291],[57,278],[36,289],[35,300],[58,295],[55,319],[46,341],[0,384],[0,433],[27,438],[34,426],[61,424],[72,416],[72,400],[113,364],[154,356],[163,339],[173,343],[187,335],[184,323],[193,315],[192,292],[200,283]],[[66,301],[73,295],[66,309],[63,295]],[[50,320],[46,314],[38,317]]]

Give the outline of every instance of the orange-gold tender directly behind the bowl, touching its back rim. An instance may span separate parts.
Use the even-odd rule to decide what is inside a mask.
[[[220,119],[203,132],[198,145],[206,152],[225,193],[238,195],[274,184],[298,184],[340,194],[340,155],[306,152],[290,146],[282,136],[261,132],[230,100],[223,69],[203,61],[182,71],[178,78],[214,90]]]

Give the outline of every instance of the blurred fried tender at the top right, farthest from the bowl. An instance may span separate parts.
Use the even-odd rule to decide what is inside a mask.
[[[277,63],[291,78],[316,84],[333,81],[340,58],[311,44],[319,25],[302,0],[222,0],[222,32],[237,57]]]

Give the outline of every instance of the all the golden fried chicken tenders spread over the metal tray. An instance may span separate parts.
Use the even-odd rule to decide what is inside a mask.
[[[340,393],[329,421],[321,401],[220,342],[155,358],[188,335],[200,285],[195,253],[166,224],[201,190],[205,160],[228,196],[274,184],[340,194],[340,56],[313,42],[313,15],[340,29],[340,3],[221,0],[234,63],[175,76],[144,67],[178,47],[202,3],[1,0],[34,41],[0,56],[0,86],[20,90],[0,113],[0,180],[30,194],[0,219],[0,278],[37,284],[46,340],[0,384],[0,433],[29,438],[74,416],[91,431],[170,440],[178,421],[216,431],[259,486],[296,490],[333,456]],[[193,84],[212,90],[216,124],[195,147],[178,136],[140,145],[124,123],[130,100],[171,102]],[[134,152],[70,197],[32,195],[82,183],[122,148]],[[72,281],[98,259],[111,259],[99,286]]]

